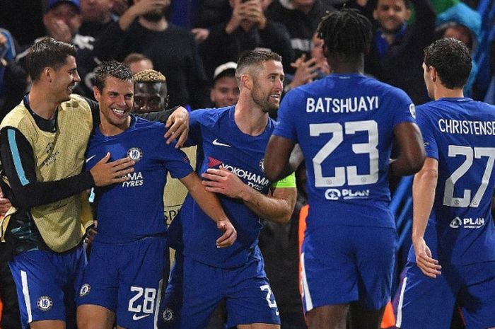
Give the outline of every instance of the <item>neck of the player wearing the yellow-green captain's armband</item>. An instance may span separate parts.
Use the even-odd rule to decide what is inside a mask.
[[[267,127],[268,113],[256,106],[246,106],[238,102],[235,105],[234,121],[241,132],[251,136],[259,136]]]

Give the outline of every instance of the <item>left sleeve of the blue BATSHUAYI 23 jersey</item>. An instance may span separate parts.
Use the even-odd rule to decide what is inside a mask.
[[[301,92],[297,89],[289,91],[282,99],[277,111],[277,125],[273,134],[297,142],[295,117],[297,110],[301,108]]]

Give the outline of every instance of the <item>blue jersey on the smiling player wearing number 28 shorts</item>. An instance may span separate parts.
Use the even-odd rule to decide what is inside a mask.
[[[129,156],[135,161],[127,180],[107,187],[95,187],[98,235],[95,241],[119,243],[166,232],[163,215],[163,187],[170,171],[173,178],[192,173],[184,152],[166,144],[167,129],[158,122],[132,116],[130,127],[106,137],[95,129],[86,152],[90,170],[110,152],[110,161]]]

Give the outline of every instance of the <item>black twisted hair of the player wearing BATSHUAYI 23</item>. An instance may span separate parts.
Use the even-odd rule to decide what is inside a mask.
[[[371,23],[356,9],[344,8],[327,13],[318,24],[318,37],[328,54],[355,58],[370,48]]]

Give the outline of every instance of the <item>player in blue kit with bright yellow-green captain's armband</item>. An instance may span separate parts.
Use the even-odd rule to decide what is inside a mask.
[[[205,178],[203,184],[219,195],[238,239],[230,248],[210,246],[218,233],[187,196],[177,215],[184,240],[180,328],[206,328],[222,299],[228,328],[279,328],[279,312],[257,238],[260,217],[286,222],[296,201],[295,187],[271,188],[263,171],[264,149],[274,129],[269,112],[279,108],[284,88],[281,57],[267,50],[246,52],[235,76],[240,86],[238,103],[193,111],[190,139],[198,147],[197,171]]]

